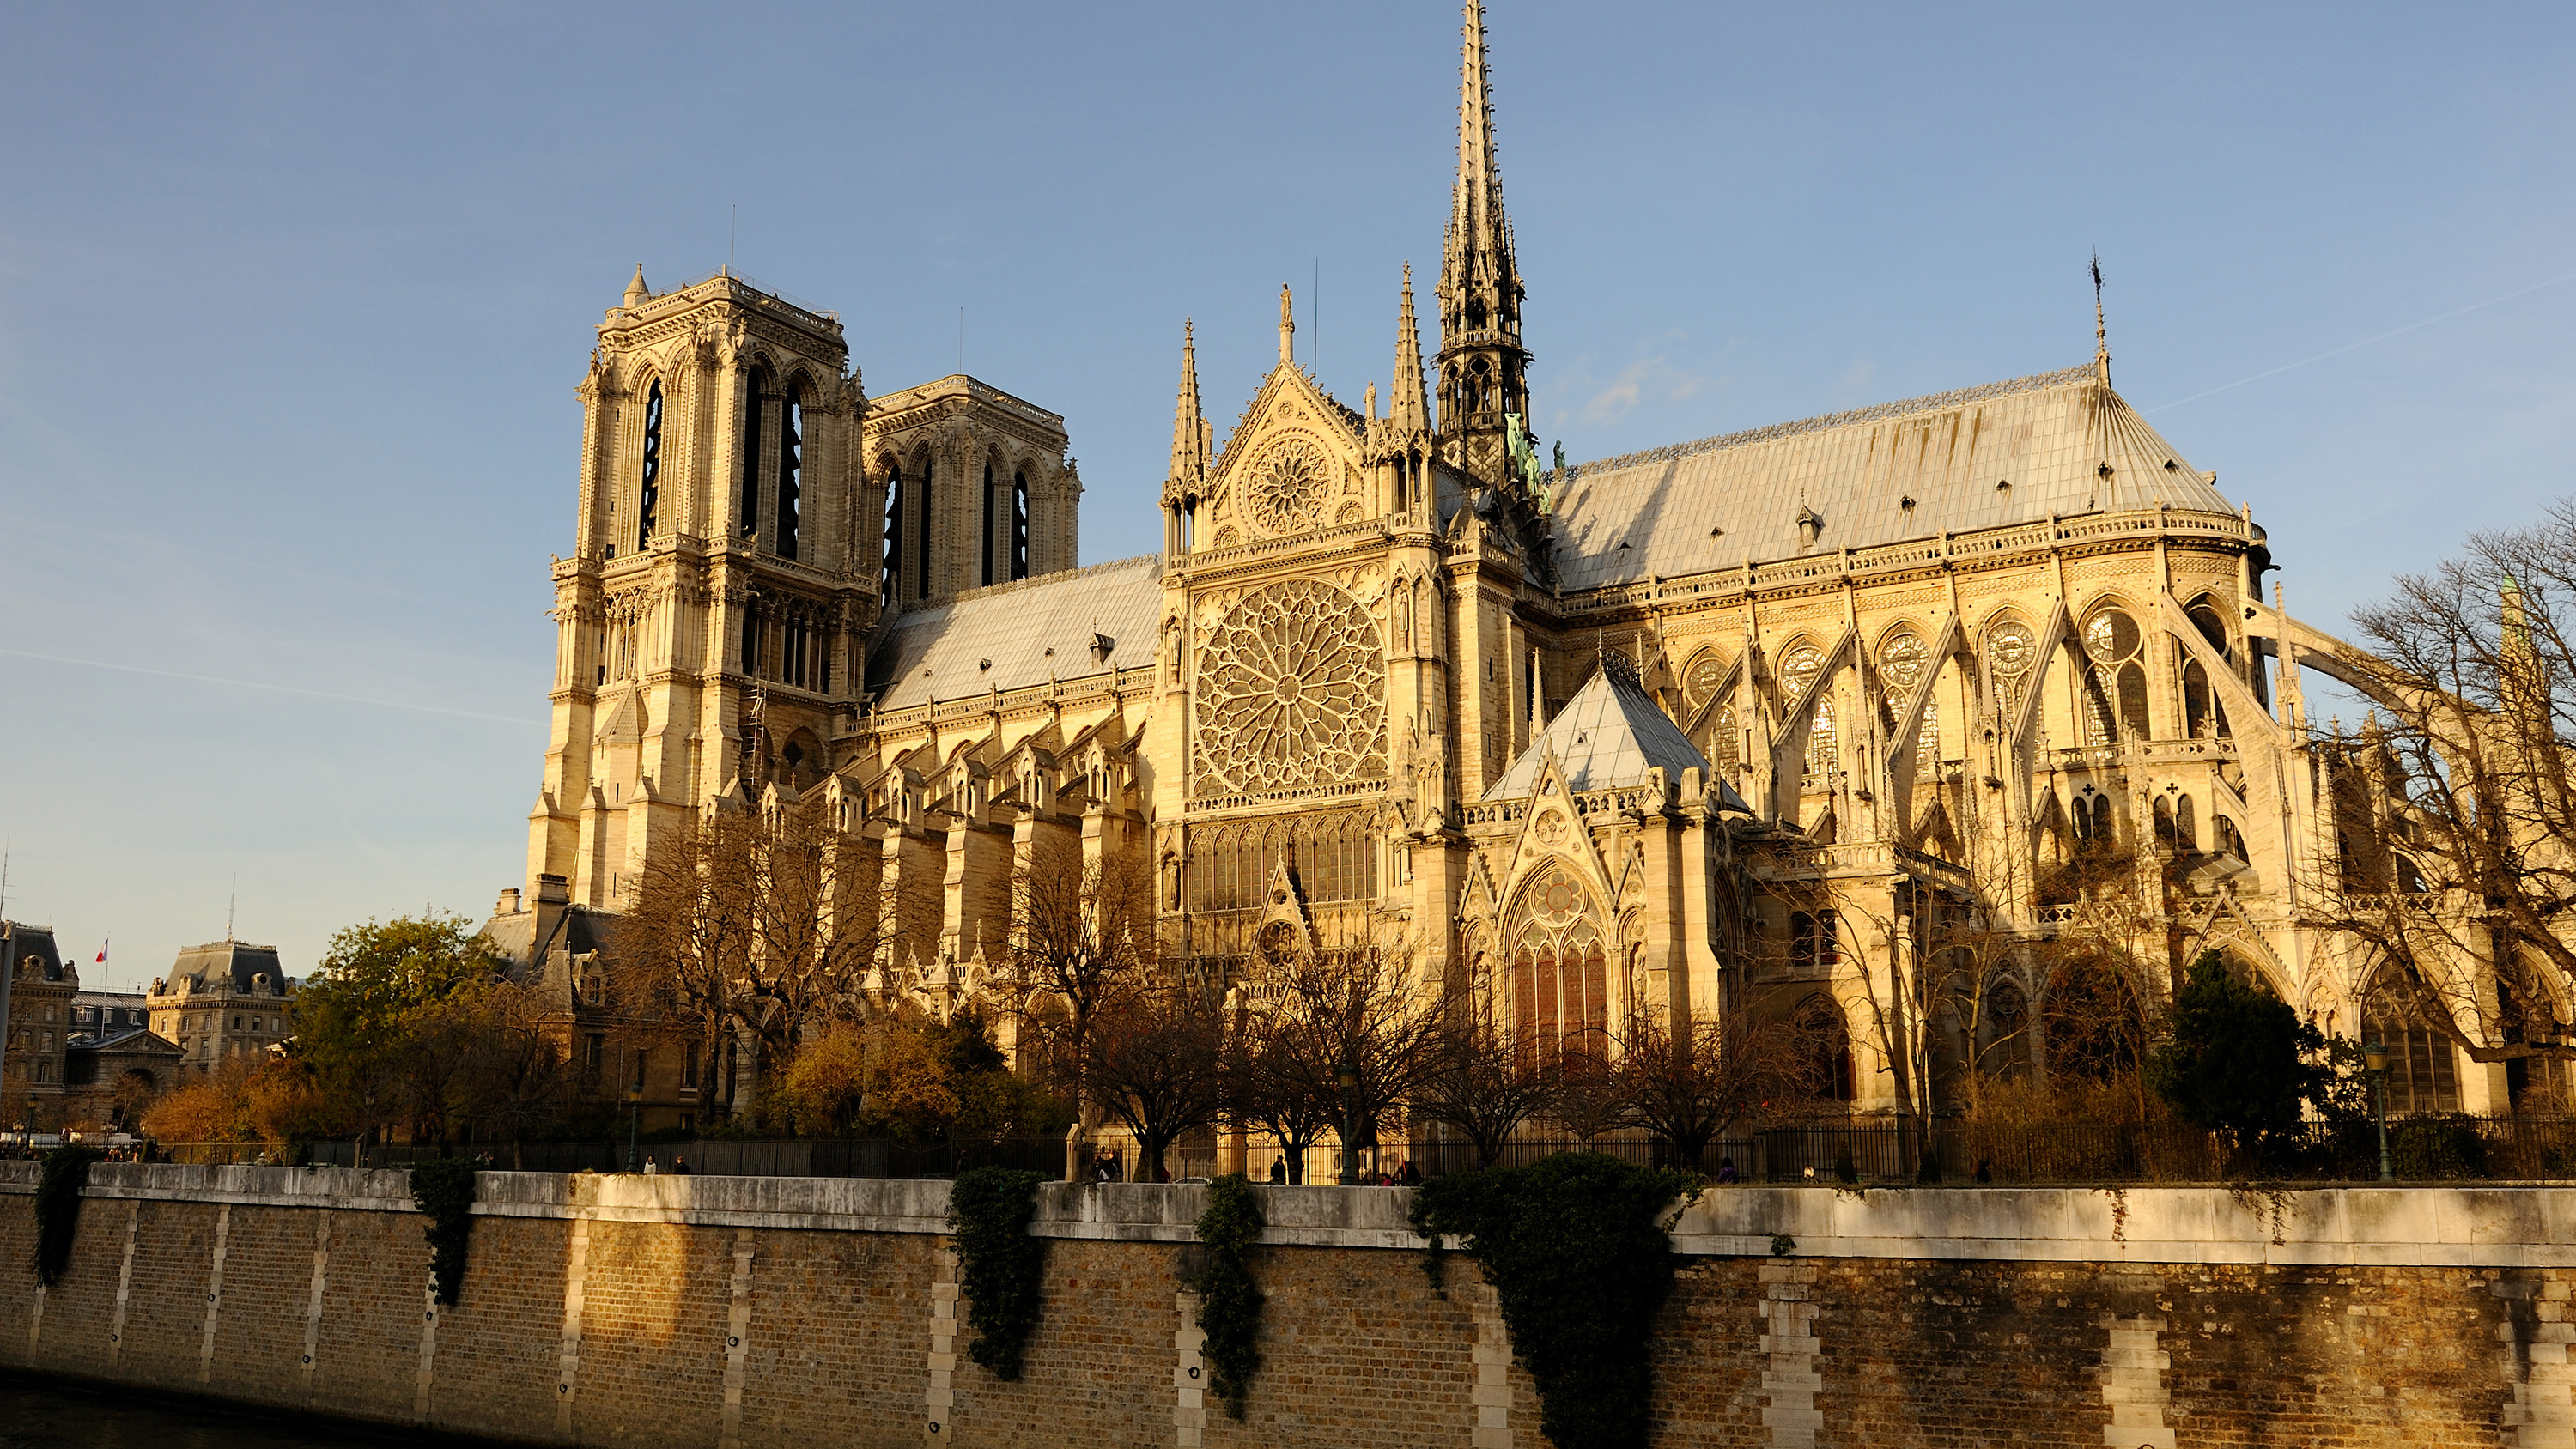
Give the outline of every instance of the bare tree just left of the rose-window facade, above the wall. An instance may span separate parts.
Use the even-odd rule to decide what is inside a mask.
[[[1010,880],[1010,945],[999,988],[1018,1042],[1043,1058],[1074,1102],[1066,1179],[1090,1158],[1103,1104],[1090,1086],[1100,1011],[1154,970],[1154,872],[1133,852],[1084,860],[1077,839],[1041,834]]]

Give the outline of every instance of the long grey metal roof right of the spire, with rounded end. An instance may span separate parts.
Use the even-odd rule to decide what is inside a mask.
[[[2159,502],[2236,512],[2081,365],[1582,463],[1556,566],[1592,589]]]

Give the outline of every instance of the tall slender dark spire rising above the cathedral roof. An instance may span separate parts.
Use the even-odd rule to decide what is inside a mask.
[[[1443,456],[1468,476],[1502,486],[1512,471],[1510,414],[1528,430],[1530,353],[1520,345],[1520,268],[1512,263],[1512,219],[1502,211],[1502,172],[1494,167],[1484,0],[1466,0],[1461,67],[1458,183],[1440,247],[1440,353],[1432,363]]]

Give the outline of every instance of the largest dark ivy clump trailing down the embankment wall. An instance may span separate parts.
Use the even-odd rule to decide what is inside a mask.
[[[1556,1153],[1525,1168],[1422,1184],[1412,1223],[1437,1251],[1484,1266],[1512,1356],[1538,1380],[1538,1428],[1556,1449],[1638,1449],[1654,1403],[1646,1351],[1672,1292],[1674,1199],[1700,1179],[1602,1153]]]

